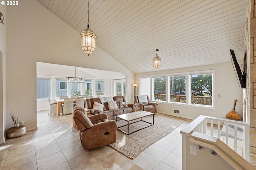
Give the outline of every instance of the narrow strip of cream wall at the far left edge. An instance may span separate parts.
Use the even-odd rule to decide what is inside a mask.
[[[4,25],[0,23],[0,143],[4,143],[6,129],[6,6],[1,5],[0,12],[4,15]]]

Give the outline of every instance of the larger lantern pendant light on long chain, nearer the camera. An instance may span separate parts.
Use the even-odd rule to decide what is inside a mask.
[[[92,32],[92,30],[89,28],[89,0],[88,0],[88,23],[87,23],[87,29],[84,29],[84,31],[81,32],[81,46],[85,53],[88,54],[88,56],[94,52],[96,49],[96,35]]]

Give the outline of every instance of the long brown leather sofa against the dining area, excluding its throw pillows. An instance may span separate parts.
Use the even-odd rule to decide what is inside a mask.
[[[93,109],[94,102],[102,104],[100,98],[90,98],[86,99],[87,109],[91,110],[91,114],[95,115],[98,113],[106,113],[108,115],[108,120],[115,120],[117,115],[131,113],[135,111],[134,104],[127,104],[128,107],[120,107],[120,102],[126,102],[124,96],[114,96],[113,100],[116,101],[118,109],[110,110],[108,108],[108,102],[104,102],[103,111],[99,111],[98,109]]]

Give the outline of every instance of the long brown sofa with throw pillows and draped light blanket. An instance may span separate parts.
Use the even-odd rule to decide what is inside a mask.
[[[95,104],[101,106],[101,109],[96,108]],[[109,102],[116,103],[116,108],[109,108]],[[126,105],[124,105],[126,103]],[[102,106],[102,104],[104,106]],[[135,111],[134,104],[127,104],[124,96],[114,96],[114,97],[102,97],[102,98],[90,98],[86,99],[87,109],[91,110],[91,114],[95,115],[98,113],[106,113],[108,115],[108,120],[115,120],[117,115],[131,113]]]

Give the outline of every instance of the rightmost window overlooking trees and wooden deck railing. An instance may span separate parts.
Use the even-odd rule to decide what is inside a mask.
[[[212,106],[212,73],[190,74],[190,104]]]

